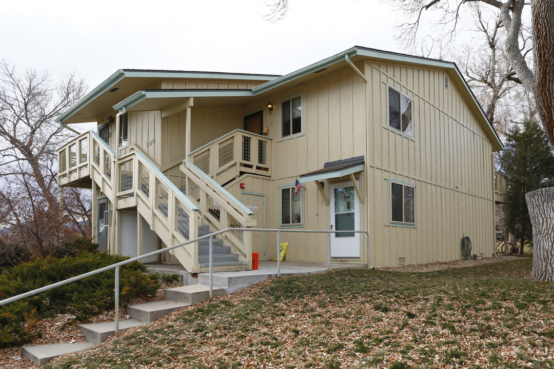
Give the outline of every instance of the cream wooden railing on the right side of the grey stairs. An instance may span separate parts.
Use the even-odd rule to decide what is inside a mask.
[[[211,227],[222,230],[256,226],[254,213],[196,165],[183,160],[181,170],[185,175],[187,198],[196,204],[202,220]],[[248,269],[252,269],[252,234],[230,231],[221,236],[239,254],[240,261],[247,262]]]

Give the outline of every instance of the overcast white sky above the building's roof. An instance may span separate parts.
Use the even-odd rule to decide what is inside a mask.
[[[266,12],[264,0],[12,0],[0,12],[0,58],[74,70],[93,89],[124,68],[287,74],[354,45],[401,51],[379,1],[290,0],[275,24]]]

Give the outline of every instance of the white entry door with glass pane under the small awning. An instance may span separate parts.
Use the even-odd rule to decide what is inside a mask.
[[[332,258],[361,257],[360,200],[350,181],[331,185],[331,230],[345,231],[331,233]]]

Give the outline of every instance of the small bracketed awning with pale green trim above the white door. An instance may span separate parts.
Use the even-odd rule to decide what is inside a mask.
[[[336,160],[335,162],[325,163],[323,165],[323,169],[302,174],[300,176],[300,182],[305,183],[305,182],[315,181],[317,190],[321,194],[321,197],[325,200],[325,203],[327,204],[327,206],[329,206],[329,200],[327,200],[327,196],[325,195],[325,192],[323,191],[320,185],[320,181],[348,176],[352,181],[352,185],[354,186],[354,189],[356,190],[358,199],[360,199],[360,202],[363,203],[362,193],[360,191],[360,188],[358,187],[356,178],[354,177],[354,173],[357,173],[358,171],[362,171],[363,169],[365,169],[365,159],[363,156],[350,158],[350,159]]]

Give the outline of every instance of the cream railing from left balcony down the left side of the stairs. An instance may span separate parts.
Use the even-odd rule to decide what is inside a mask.
[[[106,194],[114,210],[136,206],[167,246],[198,237],[197,206],[142,153],[124,155],[115,168],[115,151],[95,132],[88,131],[60,147],[58,159],[60,186],[78,184],[89,177]],[[200,272],[197,242],[170,252],[187,271]]]

